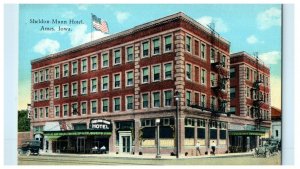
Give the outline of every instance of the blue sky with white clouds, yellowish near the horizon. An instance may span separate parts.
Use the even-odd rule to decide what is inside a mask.
[[[30,103],[30,61],[91,40],[91,13],[107,21],[109,34],[118,33],[177,12],[184,12],[215,29],[231,42],[231,53],[259,52],[271,67],[272,105],[281,108],[281,5],[20,5],[19,109]],[[83,24],[32,24],[30,19],[83,20]],[[41,31],[41,27],[55,31]],[[56,31],[58,26],[71,31]],[[93,30],[94,31],[94,30]],[[104,35],[94,32],[94,39]]]

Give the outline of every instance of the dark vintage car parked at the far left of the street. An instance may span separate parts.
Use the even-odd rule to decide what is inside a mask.
[[[27,156],[31,154],[39,155],[41,142],[38,140],[25,141],[19,148],[19,154],[26,154]]]

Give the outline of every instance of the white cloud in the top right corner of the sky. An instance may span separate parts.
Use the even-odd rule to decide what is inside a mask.
[[[258,29],[260,30],[266,30],[272,26],[280,26],[281,10],[274,7],[267,9],[257,15],[256,21]]]

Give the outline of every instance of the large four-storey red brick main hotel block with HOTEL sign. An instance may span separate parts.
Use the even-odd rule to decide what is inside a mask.
[[[229,50],[176,13],[33,60],[32,135],[47,152],[154,154],[160,119],[161,153],[176,153],[178,107],[180,155],[195,155],[197,142],[202,154],[212,142],[228,152],[231,130],[255,125],[240,102],[230,112]]]

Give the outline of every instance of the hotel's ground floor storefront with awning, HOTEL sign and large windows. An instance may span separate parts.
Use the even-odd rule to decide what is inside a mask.
[[[230,146],[239,144],[230,134],[230,119],[212,118],[207,112],[182,111],[178,132],[174,111],[69,119],[51,122],[52,127],[46,122],[43,149],[49,153],[81,154],[155,154],[158,148],[161,154],[175,155],[178,151],[181,156],[211,154],[213,149],[216,154],[230,153]],[[54,127],[55,124],[59,126]],[[247,137],[242,142],[245,139],[247,142]],[[257,138],[250,137],[250,148],[257,146],[253,140]],[[103,147],[105,151],[97,151]]]

